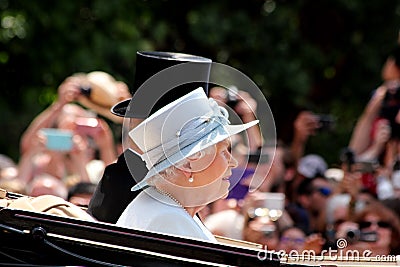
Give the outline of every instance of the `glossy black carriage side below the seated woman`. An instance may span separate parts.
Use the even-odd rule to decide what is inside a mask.
[[[0,240],[0,263],[21,266],[281,266],[261,249],[9,208]]]

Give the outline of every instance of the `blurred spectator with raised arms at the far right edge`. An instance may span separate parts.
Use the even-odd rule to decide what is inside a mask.
[[[395,173],[400,158],[399,44],[386,58],[381,77],[383,83],[374,91],[358,118],[349,147],[356,161],[375,161],[380,164],[374,177],[366,179],[364,175],[363,182],[364,186],[383,200],[395,197],[394,184],[397,184],[395,180],[398,177]]]

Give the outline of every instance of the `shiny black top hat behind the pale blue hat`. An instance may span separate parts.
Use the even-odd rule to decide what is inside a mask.
[[[113,114],[146,118],[198,87],[208,95],[211,59],[155,51],[139,51],[136,55],[135,84],[131,90],[134,103],[131,99],[117,103],[111,108]]]

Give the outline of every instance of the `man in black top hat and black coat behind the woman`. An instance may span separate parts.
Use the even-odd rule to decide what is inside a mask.
[[[135,128],[156,110],[199,86],[208,94],[211,63],[208,58],[182,53],[137,52],[133,97],[119,102],[111,112],[128,118],[128,127]],[[130,189],[147,173],[132,151],[141,153],[140,149],[134,143],[124,148],[118,161],[106,167],[89,203],[88,213],[99,221],[116,223],[140,192]]]

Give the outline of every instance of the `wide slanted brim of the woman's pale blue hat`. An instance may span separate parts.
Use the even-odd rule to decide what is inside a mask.
[[[140,188],[143,188],[147,185],[147,180],[156,175],[157,173],[160,173],[161,171],[167,169],[170,166],[173,166],[174,164],[180,162],[181,160],[211,146],[215,145],[222,140],[225,140],[226,138],[238,134],[258,123],[258,120],[248,122],[246,124],[240,124],[240,125],[225,125],[225,126],[218,126],[215,128],[213,131],[208,133],[207,135],[203,136],[200,138],[200,140],[193,142],[192,144],[182,148],[179,150],[177,153],[169,156],[167,159],[161,161],[160,163],[156,164],[153,166],[146,176],[143,178],[142,181],[138,182],[137,185],[132,187],[132,191],[136,191]]]

